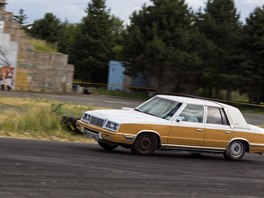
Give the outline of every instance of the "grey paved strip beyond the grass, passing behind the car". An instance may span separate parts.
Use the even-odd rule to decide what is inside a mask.
[[[87,106],[96,106],[101,108],[115,108],[131,107],[134,108],[141,104],[142,100],[132,100],[124,98],[116,98],[111,96],[97,96],[97,95],[83,95],[83,94],[42,94],[42,93],[27,93],[27,92],[13,92],[0,91],[0,96],[18,97],[18,98],[46,98],[54,99],[62,102],[70,102],[73,104],[81,104]],[[243,113],[248,123],[253,125],[264,126],[264,114]]]

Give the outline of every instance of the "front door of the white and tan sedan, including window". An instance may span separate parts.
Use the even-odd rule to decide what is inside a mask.
[[[172,121],[167,144],[172,146],[201,147],[205,135],[203,105],[185,104]]]

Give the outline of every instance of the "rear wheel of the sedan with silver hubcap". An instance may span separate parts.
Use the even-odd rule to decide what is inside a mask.
[[[246,153],[246,145],[242,141],[233,141],[227,147],[224,157],[227,160],[238,161],[241,160]]]

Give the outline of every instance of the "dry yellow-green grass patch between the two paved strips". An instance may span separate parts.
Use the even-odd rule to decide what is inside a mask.
[[[63,115],[80,117],[93,107],[42,99],[0,97],[0,136],[48,140],[89,141],[84,135],[67,131]]]

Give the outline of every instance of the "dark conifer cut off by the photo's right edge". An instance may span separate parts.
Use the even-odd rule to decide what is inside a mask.
[[[249,101],[259,104],[264,101],[264,6],[258,7],[246,19],[241,47],[242,86],[248,93]]]

